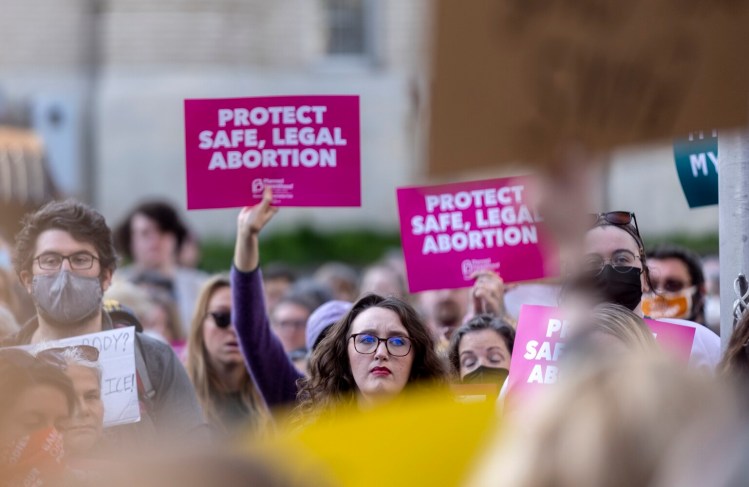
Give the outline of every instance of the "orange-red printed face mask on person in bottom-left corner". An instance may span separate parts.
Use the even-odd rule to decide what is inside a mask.
[[[2,487],[48,485],[64,470],[63,437],[54,428],[35,431],[0,448]]]

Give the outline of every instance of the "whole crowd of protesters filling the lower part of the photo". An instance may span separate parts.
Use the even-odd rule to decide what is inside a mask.
[[[484,400],[501,404],[518,302],[568,311],[565,373],[536,407],[504,411],[511,427],[471,482],[688,485],[669,482],[698,478],[685,471],[708,458],[695,445],[701,433],[745,441],[749,316],[721,353],[700,258],[673,246],[646,252],[633,213],[595,215],[559,281],[506,285],[486,270],[467,289],[409,295],[392,256],[307,278],[261,269],[271,200],[266,189],[239,212],[233,260],[213,276],[194,268],[196,237],[163,202],[139,205],[114,232],[72,200],[25,217],[0,247],[12,255],[0,273],[1,485],[95,484],[122,452],[260,441],[284,418],[304,428],[408,391],[487,384]],[[118,255],[128,265],[118,269]],[[662,353],[645,318],[694,329],[688,368]],[[141,419],[105,427],[98,350],[49,342],[129,326]],[[683,438],[691,448],[677,448]],[[714,472],[710,485],[749,478],[721,458],[711,468],[730,475],[719,482]]]

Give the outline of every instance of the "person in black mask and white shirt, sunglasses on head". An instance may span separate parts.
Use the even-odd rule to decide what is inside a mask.
[[[587,294],[594,303],[619,304],[643,316],[643,290],[652,288],[644,249],[634,213],[613,211],[594,215],[583,239],[581,268],[569,280],[567,291],[578,296],[580,292]],[[715,333],[687,320],[663,321],[695,328],[690,364],[715,369],[720,360],[720,339]]]

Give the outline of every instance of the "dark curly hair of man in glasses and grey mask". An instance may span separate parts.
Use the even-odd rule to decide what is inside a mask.
[[[112,231],[104,217],[88,205],[72,199],[51,201],[37,211],[28,213],[21,221],[23,228],[16,235],[13,266],[17,274],[31,269],[39,235],[50,229],[68,232],[80,242],[90,243],[99,254],[101,269],[114,271],[117,254],[112,242]]]

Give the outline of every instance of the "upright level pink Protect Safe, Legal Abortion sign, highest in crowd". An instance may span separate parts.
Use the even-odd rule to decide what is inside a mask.
[[[360,206],[359,97],[185,100],[187,208]]]

